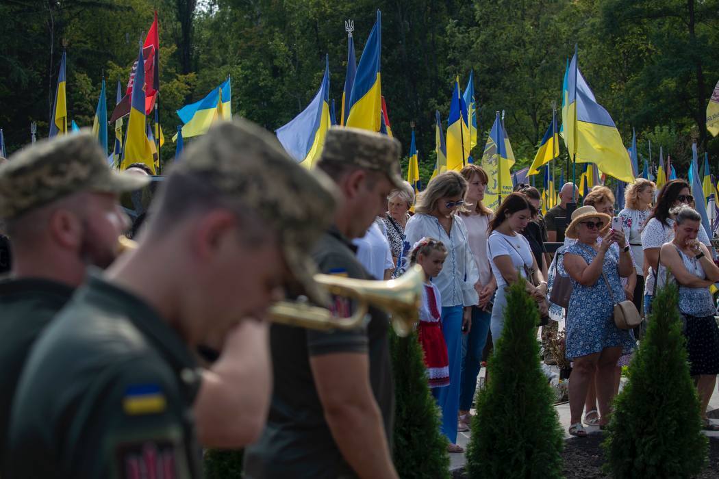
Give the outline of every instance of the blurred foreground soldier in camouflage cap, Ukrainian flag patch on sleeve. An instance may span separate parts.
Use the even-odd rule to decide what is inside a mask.
[[[200,478],[201,417],[213,414],[234,429],[216,446],[255,440],[272,381],[267,325],[245,319],[262,319],[288,279],[321,297],[308,255],[334,203],[329,180],[247,121],[194,141],[161,185],[137,249],[91,275],[33,348],[16,394],[10,477]],[[222,355],[200,371],[192,351],[214,338],[224,338]],[[242,381],[223,389],[223,371]]]

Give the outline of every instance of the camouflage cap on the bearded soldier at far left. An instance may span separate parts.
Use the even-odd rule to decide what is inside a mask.
[[[147,177],[109,167],[88,129],[24,147],[0,166],[0,218],[12,220],[73,193],[120,193],[147,185]]]

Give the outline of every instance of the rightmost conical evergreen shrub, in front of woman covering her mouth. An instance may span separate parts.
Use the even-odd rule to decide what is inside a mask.
[[[691,478],[707,460],[675,285],[659,289],[649,328],[615,399],[603,447],[614,478]]]

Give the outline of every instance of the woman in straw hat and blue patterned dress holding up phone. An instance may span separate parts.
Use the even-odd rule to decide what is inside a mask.
[[[569,376],[569,434],[586,436],[582,427],[587,389],[592,376],[597,387],[600,427],[609,422],[614,392],[614,368],[622,353],[634,348],[631,332],[614,324],[613,307],[625,298],[620,276],[631,274],[633,262],[621,231],[608,230],[611,217],[582,206],[572,213],[565,236],[577,243],[564,254],[564,269],[572,278],[567,313],[567,358],[574,361]]]

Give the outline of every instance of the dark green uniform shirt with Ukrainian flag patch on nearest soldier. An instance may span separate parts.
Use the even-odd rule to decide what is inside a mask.
[[[13,478],[200,476],[191,404],[200,376],[178,333],[141,299],[90,276],[24,368]]]

